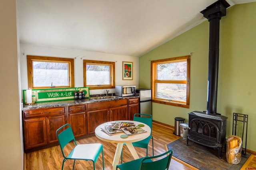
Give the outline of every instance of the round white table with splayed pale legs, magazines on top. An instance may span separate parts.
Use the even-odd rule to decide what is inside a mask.
[[[107,142],[110,142],[110,143],[117,143],[116,152],[115,152],[115,156],[114,156],[113,163],[112,163],[112,166],[113,166],[112,170],[115,170],[116,165],[119,163],[124,143],[126,144],[128,149],[130,150],[134,159],[138,159],[139,156],[138,156],[136,150],[134,149],[134,147],[132,145],[132,142],[137,142],[137,141],[141,141],[143,139],[146,139],[151,133],[150,127],[148,125],[142,123],[142,122],[130,121],[130,120],[120,120],[120,121],[121,122],[127,122],[127,123],[131,122],[131,123],[134,123],[135,125],[143,124],[144,127],[142,127],[142,129],[146,130],[146,132],[139,133],[139,134],[136,134],[136,135],[129,135],[127,138],[121,138],[120,135],[124,135],[125,134],[124,132],[120,132],[120,133],[117,133],[115,135],[110,136],[110,135],[106,134],[105,132],[103,132],[101,130],[101,128],[104,128],[104,125],[107,125],[109,123],[114,123],[116,121],[103,123],[103,124],[99,125],[98,127],[96,127],[96,129],[95,129],[96,137],[98,137],[102,141],[107,141]]]

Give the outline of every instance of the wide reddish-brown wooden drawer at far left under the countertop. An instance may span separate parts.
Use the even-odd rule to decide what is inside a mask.
[[[54,108],[47,108],[47,109],[34,109],[34,110],[25,110],[23,111],[24,119],[30,117],[42,117],[48,115],[58,115],[64,114],[65,107],[54,107]]]

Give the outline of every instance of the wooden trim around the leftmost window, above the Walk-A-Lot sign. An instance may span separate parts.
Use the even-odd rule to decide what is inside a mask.
[[[59,57],[44,57],[44,56],[33,56],[27,55],[27,70],[28,70],[28,88],[50,88],[50,86],[45,87],[34,87],[33,85],[33,63],[32,61],[52,61],[52,62],[65,62],[68,63],[68,74],[70,77],[69,86],[55,86],[55,88],[66,88],[74,87],[74,59],[69,58],[59,58]]]

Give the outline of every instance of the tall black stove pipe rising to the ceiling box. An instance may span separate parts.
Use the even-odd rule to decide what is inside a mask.
[[[209,61],[208,61],[208,92],[206,113],[216,114],[219,67],[220,19],[226,16],[226,8],[230,5],[225,0],[218,0],[201,13],[210,23]]]

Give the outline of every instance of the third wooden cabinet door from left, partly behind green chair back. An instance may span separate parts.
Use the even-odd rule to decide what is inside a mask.
[[[74,133],[74,137],[87,135],[86,113],[68,113],[68,123]]]

